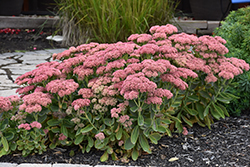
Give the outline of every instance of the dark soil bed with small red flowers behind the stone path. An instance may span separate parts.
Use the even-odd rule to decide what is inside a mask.
[[[61,42],[47,40],[50,35],[60,35],[55,29],[0,29],[0,54],[62,48]]]

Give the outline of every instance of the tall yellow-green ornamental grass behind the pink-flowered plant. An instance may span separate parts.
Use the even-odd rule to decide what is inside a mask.
[[[125,41],[173,17],[173,0],[58,0],[66,45]]]

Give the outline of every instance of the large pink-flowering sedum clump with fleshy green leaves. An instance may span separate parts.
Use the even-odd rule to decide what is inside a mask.
[[[18,77],[20,98],[0,97],[0,156],[77,145],[127,162],[164,135],[229,116],[220,103],[234,98],[226,90],[249,65],[224,57],[219,36],[178,34],[170,24],[150,33],[70,47]]]

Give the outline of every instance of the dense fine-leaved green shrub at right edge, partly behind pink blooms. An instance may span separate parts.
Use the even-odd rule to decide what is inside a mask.
[[[232,11],[214,33],[227,41],[225,46],[229,52],[226,57],[236,57],[250,63],[250,7]],[[226,107],[232,115],[238,116],[241,111],[250,108],[250,73],[235,77],[233,82],[234,87],[229,92],[239,98]]]

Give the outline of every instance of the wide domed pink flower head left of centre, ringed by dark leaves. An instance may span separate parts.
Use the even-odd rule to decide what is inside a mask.
[[[79,84],[76,83],[73,79],[56,79],[50,81],[46,85],[46,90],[50,91],[51,93],[58,93],[60,97],[63,97],[75,92],[78,87]]]

